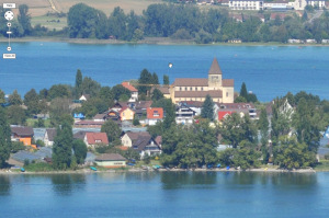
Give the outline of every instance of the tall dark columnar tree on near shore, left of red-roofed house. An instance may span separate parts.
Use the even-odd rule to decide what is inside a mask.
[[[63,123],[57,128],[57,135],[53,146],[53,167],[56,170],[67,170],[71,165],[72,159],[72,127],[68,123]]]

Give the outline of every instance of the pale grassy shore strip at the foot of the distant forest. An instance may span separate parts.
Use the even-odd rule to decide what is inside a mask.
[[[31,43],[31,42],[53,42],[53,43],[72,43],[72,44],[113,44],[113,45],[197,45],[197,46],[329,46],[329,44],[287,44],[287,43],[213,43],[213,44],[196,44],[194,41],[177,41],[171,38],[147,37],[138,42],[125,42],[117,39],[95,39],[95,38],[68,38],[68,37],[22,37],[11,38],[11,43]],[[7,37],[0,37],[0,43],[8,43]]]

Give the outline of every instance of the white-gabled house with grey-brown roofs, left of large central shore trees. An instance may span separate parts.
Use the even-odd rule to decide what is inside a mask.
[[[143,158],[145,153],[149,156],[160,154],[162,138],[152,139],[148,131],[132,133],[127,131],[121,139],[124,147],[137,150]]]

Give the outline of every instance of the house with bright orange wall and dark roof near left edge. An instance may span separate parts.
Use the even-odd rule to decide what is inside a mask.
[[[27,126],[13,126],[11,127],[11,140],[21,141],[24,146],[32,146],[32,138],[34,131],[32,127]]]

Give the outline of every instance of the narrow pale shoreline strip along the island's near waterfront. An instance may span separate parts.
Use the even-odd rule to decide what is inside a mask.
[[[237,170],[237,169],[159,169],[159,170],[154,170],[154,169],[149,169],[149,170],[143,170],[140,168],[129,168],[128,170],[113,170],[113,169],[109,169],[109,170],[100,170],[100,171],[92,171],[89,169],[80,169],[80,170],[69,170],[69,171],[47,171],[47,172],[20,172],[19,170],[0,170],[0,175],[10,175],[10,174],[90,174],[90,173],[134,173],[134,172],[263,172],[263,173],[316,173],[316,172],[329,172],[328,170],[314,170],[311,168],[309,169],[298,169],[298,170],[284,170],[284,169],[273,169],[273,168],[269,168],[269,169],[247,169],[247,170]]]

